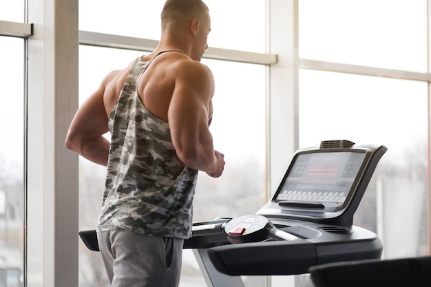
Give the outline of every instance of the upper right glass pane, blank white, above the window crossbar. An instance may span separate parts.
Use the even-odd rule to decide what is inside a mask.
[[[299,56],[427,71],[426,0],[301,0]]]

